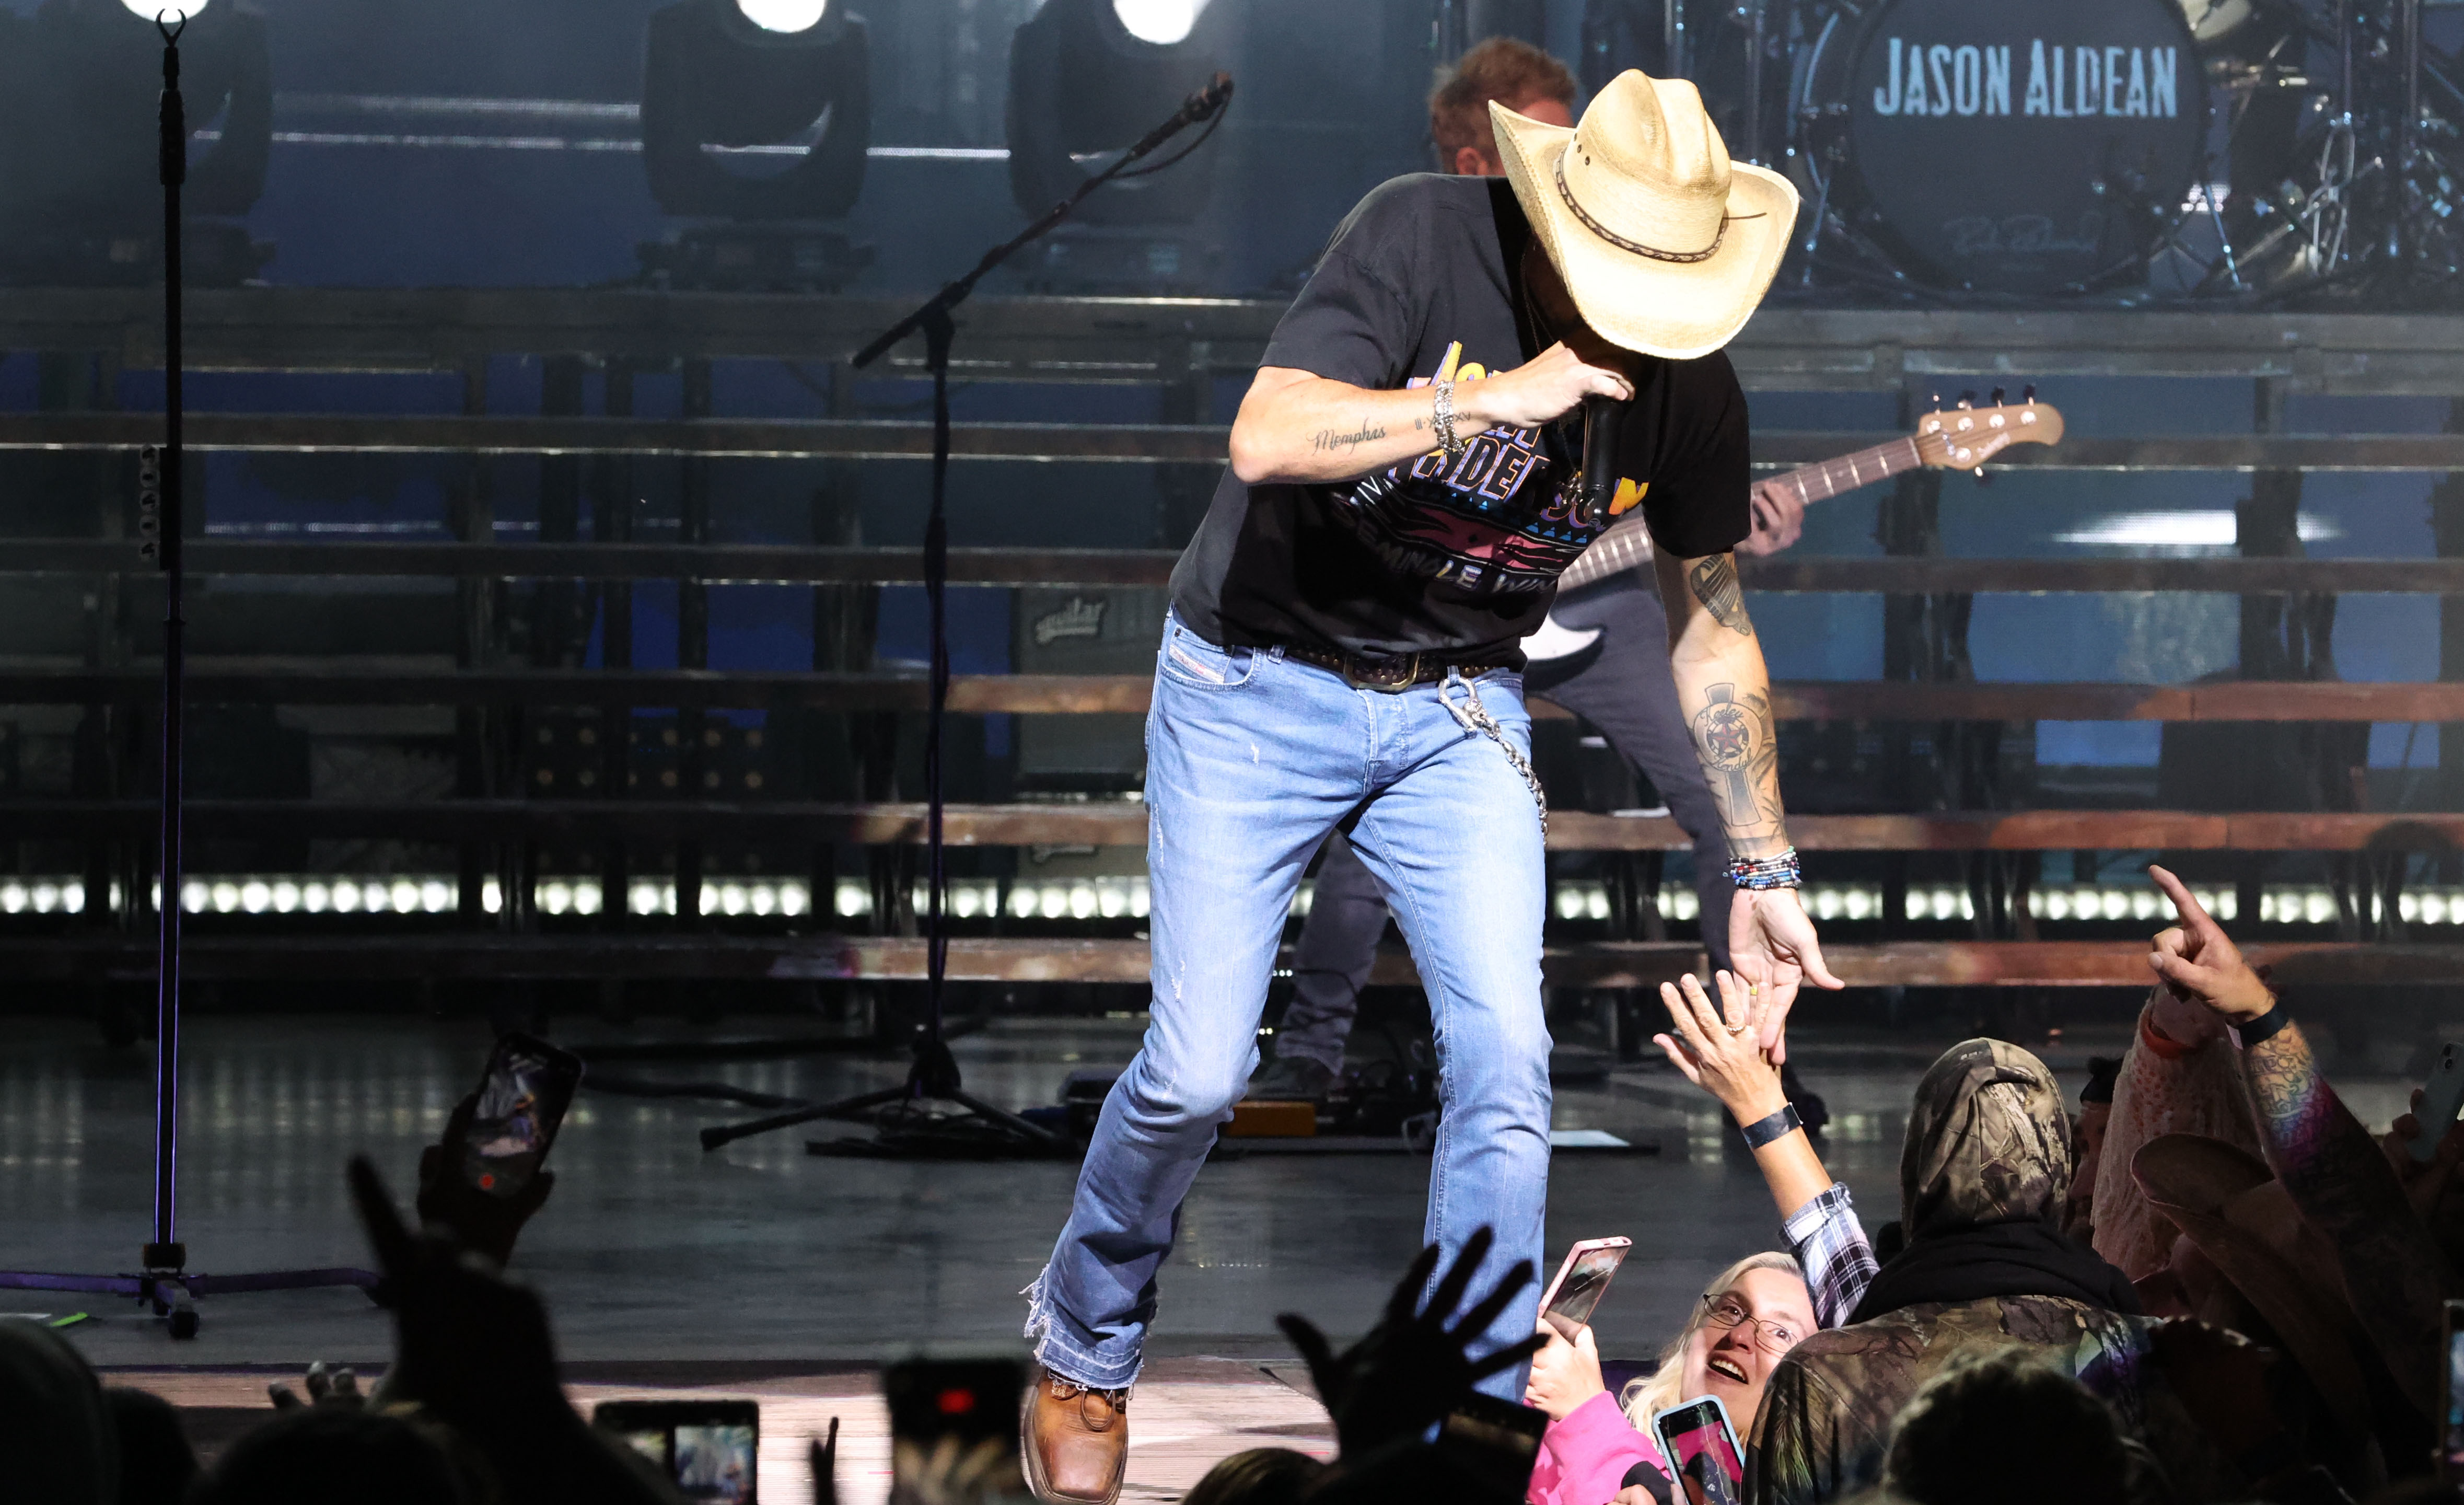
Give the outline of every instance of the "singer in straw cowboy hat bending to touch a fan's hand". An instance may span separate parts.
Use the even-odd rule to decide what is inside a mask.
[[[1745,394],[1717,355],[1779,268],[1796,192],[1732,165],[1683,81],[1624,74],[1574,128],[1491,121],[1506,182],[1402,177],[1335,232],[1173,571],[1148,712],[1151,1025],[1030,1286],[1023,1441],[1047,1500],[1119,1495],[1156,1271],[1257,1064],[1276,943],[1331,830],[1385,887],[1437,1022],[1427,1237],[1451,1254],[1493,1227],[1483,1286],[1540,1259],[1545,810],[1515,643],[1616,512],[1641,507],[1658,544],[1671,668],[1745,889],[1735,966],[1774,995],[1774,1035],[1801,978],[1841,985],[1796,902],[1730,559]],[[1589,424],[1614,498],[1582,485],[1594,397],[1619,404]],[[1486,1347],[1530,1333],[1518,1303]],[[1520,1367],[1486,1384],[1510,1399]]]

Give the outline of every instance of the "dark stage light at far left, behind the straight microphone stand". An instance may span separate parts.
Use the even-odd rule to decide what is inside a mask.
[[[266,187],[274,67],[266,17],[190,0],[180,94],[190,153],[190,283],[254,278],[274,249],[239,217]],[[158,101],[163,37],[148,0],[52,0],[0,47],[0,281],[145,283],[163,276]]]

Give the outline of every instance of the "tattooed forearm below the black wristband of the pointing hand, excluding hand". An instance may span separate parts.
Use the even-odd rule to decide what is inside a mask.
[[[2439,1301],[2449,1283],[2437,1239],[2412,1212],[2370,1131],[2319,1076],[2299,1025],[2252,1044],[2242,1074],[2277,1180],[2336,1246],[2353,1313],[2388,1370],[2427,1409],[2444,1365]]]

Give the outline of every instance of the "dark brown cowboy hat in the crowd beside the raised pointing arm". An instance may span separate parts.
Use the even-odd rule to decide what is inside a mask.
[[[2301,1219],[2267,1163],[2200,1133],[2166,1133],[2131,1155],[2131,1180],[2259,1308],[2346,1429],[2365,1429],[2353,1310],[2336,1251]]]

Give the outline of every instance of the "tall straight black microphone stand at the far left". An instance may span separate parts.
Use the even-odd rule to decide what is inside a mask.
[[[165,12],[168,15],[168,12]],[[163,569],[163,850],[160,897],[155,899],[155,1224],[153,1241],[140,1251],[143,1271],[133,1276],[57,1276],[42,1271],[0,1271],[7,1291],[89,1291],[133,1296],[168,1318],[172,1338],[197,1335],[197,1296],[224,1291],[306,1291],[310,1286],[377,1288],[377,1276],[360,1269],[261,1271],[249,1276],[192,1276],[187,1246],[180,1241],[180,805],[182,805],[182,712],[187,700],[187,658],[182,618],[182,512],[180,483],[185,451],[180,446],[180,185],[187,182],[187,106],[180,99],[180,34],[187,15],[163,32],[163,448],[138,451],[138,554]],[[136,894],[131,894],[136,902]]]

